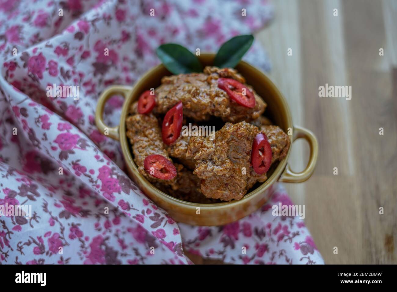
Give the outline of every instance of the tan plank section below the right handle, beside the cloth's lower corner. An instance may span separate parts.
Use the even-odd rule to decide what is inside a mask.
[[[306,183],[306,226],[326,264],[362,263],[362,215],[349,177],[316,176]],[[334,248],[337,247],[337,254]]]

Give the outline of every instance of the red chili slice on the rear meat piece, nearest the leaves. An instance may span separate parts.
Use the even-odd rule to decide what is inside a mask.
[[[225,90],[229,98],[246,108],[255,107],[255,96],[247,86],[230,78],[219,78],[218,87]],[[243,90],[245,89],[245,92]],[[245,93],[245,94],[243,94]]]

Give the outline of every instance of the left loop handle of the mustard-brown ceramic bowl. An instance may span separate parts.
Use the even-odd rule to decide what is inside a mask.
[[[105,125],[102,115],[103,115],[103,110],[106,104],[106,101],[116,95],[119,94],[123,96],[124,99],[127,98],[129,92],[131,92],[132,87],[131,86],[124,86],[124,85],[113,85],[109,86],[106,88],[104,92],[102,92],[101,96],[98,99],[98,104],[96,105],[96,111],[95,111],[95,123],[96,127],[98,128],[98,131],[106,136],[109,136],[110,138],[113,138],[114,140],[120,140],[119,136],[119,125],[116,127],[109,127]]]

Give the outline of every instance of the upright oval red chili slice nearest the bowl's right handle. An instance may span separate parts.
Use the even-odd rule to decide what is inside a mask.
[[[270,164],[272,164],[272,148],[264,133],[259,133],[255,136],[252,143],[251,163],[258,175],[266,173],[270,168]]]

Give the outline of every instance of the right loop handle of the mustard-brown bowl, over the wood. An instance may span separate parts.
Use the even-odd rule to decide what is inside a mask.
[[[312,131],[305,129],[303,127],[294,126],[294,134],[292,138],[292,143],[299,139],[304,138],[310,147],[309,161],[306,168],[301,172],[295,172],[291,170],[291,167],[287,164],[284,172],[279,178],[280,182],[283,183],[302,183],[307,181],[313,174],[314,168],[316,167],[317,156],[318,156],[318,142],[316,136],[314,136]]]

